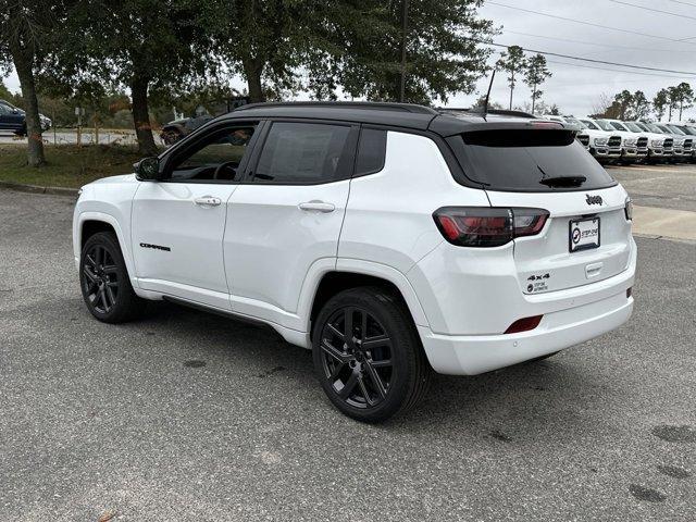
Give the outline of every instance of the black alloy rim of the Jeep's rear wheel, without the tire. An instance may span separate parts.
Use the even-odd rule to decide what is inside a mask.
[[[353,408],[386,399],[394,374],[391,338],[368,310],[347,307],[332,314],[321,336],[324,375]]]

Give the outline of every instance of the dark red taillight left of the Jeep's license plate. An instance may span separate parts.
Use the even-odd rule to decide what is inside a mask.
[[[433,214],[445,239],[460,247],[499,247],[542,232],[548,211],[486,207],[444,207]]]

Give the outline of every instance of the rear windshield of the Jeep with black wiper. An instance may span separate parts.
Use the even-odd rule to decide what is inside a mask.
[[[450,142],[467,177],[495,190],[593,190],[617,184],[573,132],[477,130],[450,138]],[[568,184],[557,178],[576,181]]]

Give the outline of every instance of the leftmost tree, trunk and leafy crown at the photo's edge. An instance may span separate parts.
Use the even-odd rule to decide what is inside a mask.
[[[0,62],[12,62],[20,78],[26,133],[27,163],[46,163],[39,120],[37,71],[48,49],[60,41],[58,27],[65,22],[66,2],[47,0],[0,0]]]

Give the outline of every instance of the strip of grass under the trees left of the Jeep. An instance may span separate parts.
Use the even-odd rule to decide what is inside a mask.
[[[47,164],[26,165],[26,148],[0,145],[0,181],[42,187],[78,188],[100,177],[129,174],[140,159],[137,150],[124,146],[47,146]]]

